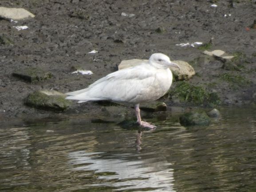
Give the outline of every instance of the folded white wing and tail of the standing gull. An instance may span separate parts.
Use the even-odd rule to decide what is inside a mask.
[[[67,99],[81,102],[100,100],[136,102],[139,95],[150,91],[154,80],[154,67],[145,63],[108,74],[86,89],[67,93],[69,95]]]

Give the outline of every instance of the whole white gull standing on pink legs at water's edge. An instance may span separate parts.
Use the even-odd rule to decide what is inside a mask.
[[[69,95],[66,99],[132,103],[135,105],[138,123],[154,128],[154,125],[141,121],[139,103],[157,100],[169,90],[173,80],[169,66],[179,68],[168,56],[155,53],[150,56],[148,63],[108,74],[85,89],[66,93]]]

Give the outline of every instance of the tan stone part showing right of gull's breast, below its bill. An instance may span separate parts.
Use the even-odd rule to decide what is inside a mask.
[[[182,81],[182,80],[189,80],[190,78],[195,75],[195,70],[189,63],[185,61],[173,61],[174,63],[177,63],[181,69],[177,69],[174,67],[170,67],[170,70],[173,72],[173,76],[176,80]]]

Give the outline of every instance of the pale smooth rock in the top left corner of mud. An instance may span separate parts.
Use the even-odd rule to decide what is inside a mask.
[[[24,8],[0,7],[0,17],[6,20],[25,20],[35,16]]]

